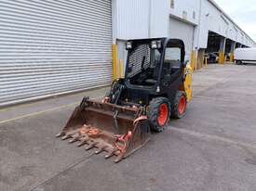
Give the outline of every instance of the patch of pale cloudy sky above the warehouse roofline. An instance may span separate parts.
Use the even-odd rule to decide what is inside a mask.
[[[215,0],[215,2],[256,42],[256,0]]]

